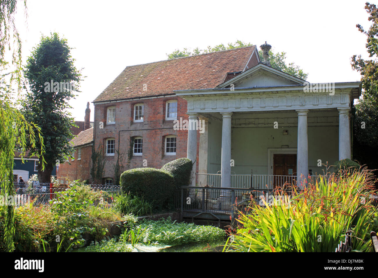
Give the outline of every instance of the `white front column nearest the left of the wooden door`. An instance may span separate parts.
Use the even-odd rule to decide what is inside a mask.
[[[222,187],[231,187],[231,115],[232,112],[222,113]]]

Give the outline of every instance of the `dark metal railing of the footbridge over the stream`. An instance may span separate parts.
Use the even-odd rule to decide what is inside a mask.
[[[270,189],[254,188],[223,188],[212,186],[182,186],[181,187],[181,212],[197,211],[201,213],[231,214],[234,218],[235,208],[251,205],[256,202],[264,205],[263,199],[268,203],[270,200],[290,202],[284,195],[291,196],[291,190],[275,191]]]

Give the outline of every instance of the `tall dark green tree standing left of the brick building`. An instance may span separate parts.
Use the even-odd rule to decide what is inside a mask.
[[[74,97],[81,73],[74,67],[71,49],[67,40],[60,39],[57,33],[42,36],[26,64],[30,91],[23,102],[23,113],[28,121],[37,123],[43,130],[45,141],[46,169],[42,171],[38,167],[40,182],[50,182],[56,163],[73,152],[68,141],[73,138],[70,127],[75,125],[67,109],[71,108],[68,101]],[[40,151],[41,145],[28,147],[35,152]]]

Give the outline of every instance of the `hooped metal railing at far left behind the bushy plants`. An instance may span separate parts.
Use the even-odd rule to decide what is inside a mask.
[[[50,200],[57,197],[58,192],[65,191],[68,185],[61,184],[53,186],[52,183],[19,183],[14,182],[15,199],[19,200],[18,204],[26,204],[29,201],[34,201],[34,205],[47,205]],[[113,197],[121,192],[121,186],[116,185],[89,185],[93,191],[105,191],[109,194],[110,202]],[[15,203],[17,206],[17,204]]]

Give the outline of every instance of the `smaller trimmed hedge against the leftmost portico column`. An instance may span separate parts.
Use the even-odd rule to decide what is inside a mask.
[[[161,167],[161,170],[170,172],[175,179],[176,186],[188,186],[193,163],[189,158],[178,158]]]

